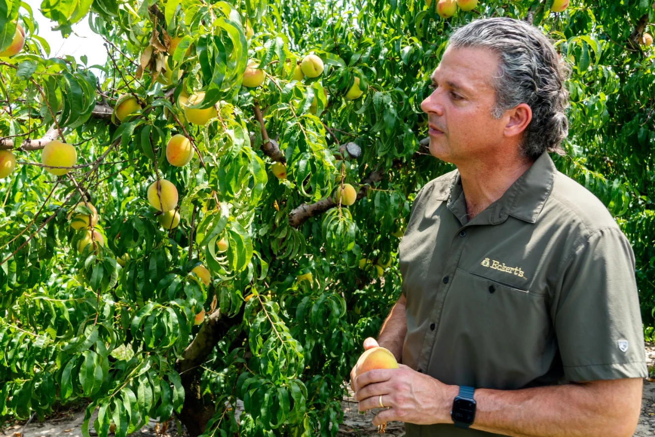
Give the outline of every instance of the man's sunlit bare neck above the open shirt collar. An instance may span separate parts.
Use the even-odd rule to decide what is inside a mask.
[[[457,166],[462,178],[468,220],[482,212],[512,186],[534,161],[525,157],[485,157]]]

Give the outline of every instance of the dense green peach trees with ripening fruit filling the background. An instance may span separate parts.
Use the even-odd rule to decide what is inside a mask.
[[[540,26],[571,64],[557,168],[630,238],[652,326],[653,9],[458,3],[44,0],[62,33],[105,39],[96,75],[0,0],[0,421],[88,398],[100,437],[171,415],[335,435],[400,294],[411,201],[452,169],[421,142],[429,75],[485,16]]]

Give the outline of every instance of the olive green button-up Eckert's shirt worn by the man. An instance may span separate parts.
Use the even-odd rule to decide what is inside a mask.
[[[402,362],[442,383],[515,390],[648,375],[632,248],[548,153],[470,221],[457,170],[427,183],[400,242],[400,270]]]

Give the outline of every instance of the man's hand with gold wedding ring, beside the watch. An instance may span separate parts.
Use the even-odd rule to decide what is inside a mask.
[[[398,369],[369,370],[357,377],[355,399],[359,411],[390,407],[373,417],[373,426],[402,421],[417,425],[453,423],[450,409],[458,387],[447,385],[404,364]]]

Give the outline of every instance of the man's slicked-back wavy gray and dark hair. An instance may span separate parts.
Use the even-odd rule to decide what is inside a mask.
[[[507,109],[529,105],[533,118],[523,136],[523,154],[531,159],[544,151],[564,155],[559,145],[569,134],[565,114],[569,92],[564,82],[571,69],[542,31],[514,18],[483,18],[457,29],[448,47],[495,52],[500,63],[493,81],[496,103],[491,115],[499,119]]]

